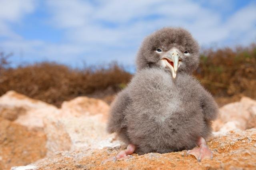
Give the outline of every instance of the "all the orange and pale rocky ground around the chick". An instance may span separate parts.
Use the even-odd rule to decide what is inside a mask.
[[[124,149],[105,131],[109,105],[78,97],[57,108],[14,91],[0,97],[0,170],[26,169],[256,169],[256,101],[220,108],[208,145],[212,160],[186,150],[148,153],[102,163]]]

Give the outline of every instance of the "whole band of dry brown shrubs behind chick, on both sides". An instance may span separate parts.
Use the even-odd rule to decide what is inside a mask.
[[[2,56],[2,57],[1,57]],[[6,68],[8,55],[0,55],[0,95],[8,90],[60,106],[64,100],[96,93],[114,94],[132,74],[114,63],[108,67],[76,70],[56,63]],[[249,96],[256,99],[256,45],[208,49],[194,73],[216,97]]]

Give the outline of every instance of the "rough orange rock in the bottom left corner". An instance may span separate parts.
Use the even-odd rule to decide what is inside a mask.
[[[0,117],[0,169],[30,164],[46,155],[46,135]]]

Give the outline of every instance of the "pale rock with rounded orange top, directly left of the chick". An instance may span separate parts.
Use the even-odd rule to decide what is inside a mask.
[[[63,102],[58,117],[44,118],[48,155],[77,148],[101,149],[120,145],[106,132],[109,106],[88,97]]]

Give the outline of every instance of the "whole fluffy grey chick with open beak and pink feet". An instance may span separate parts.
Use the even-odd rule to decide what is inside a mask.
[[[199,64],[199,47],[182,28],[166,27],[146,37],[138,51],[137,72],[114,100],[107,130],[128,147],[114,158],[137,152],[189,150],[200,161],[212,158],[204,139],[218,107],[190,74]],[[108,161],[106,160],[106,161]]]

